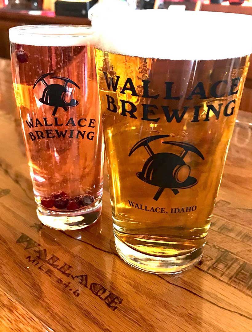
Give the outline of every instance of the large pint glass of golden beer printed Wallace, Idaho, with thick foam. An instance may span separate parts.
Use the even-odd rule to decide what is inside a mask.
[[[141,270],[180,272],[206,242],[252,17],[146,10],[92,25],[117,251]]]

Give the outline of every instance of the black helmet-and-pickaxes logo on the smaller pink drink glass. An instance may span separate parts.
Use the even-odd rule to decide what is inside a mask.
[[[68,111],[68,107],[74,107],[79,104],[77,100],[73,99],[72,93],[68,90],[68,83],[75,85],[78,89],[80,87],[70,78],[62,76],[53,76],[52,78],[64,81],[63,85],[47,84],[45,77],[53,74],[54,72],[39,76],[33,85],[33,89],[38,84],[38,82],[42,82],[44,84],[45,88],[42,94],[42,98],[39,98],[39,101],[44,105],[54,106],[52,115],[55,116],[59,107],[62,107],[64,111]]]

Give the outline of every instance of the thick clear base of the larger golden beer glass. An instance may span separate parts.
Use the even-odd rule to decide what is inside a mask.
[[[203,246],[189,254],[176,257],[156,257],[136,251],[115,235],[115,245],[119,256],[129,265],[142,271],[157,274],[175,274],[190,269],[197,264],[203,254]]]

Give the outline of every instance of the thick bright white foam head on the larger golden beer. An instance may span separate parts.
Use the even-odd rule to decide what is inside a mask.
[[[93,15],[95,46],[112,53],[171,60],[252,53],[252,16],[216,12],[125,10]]]

